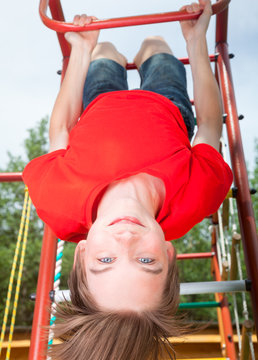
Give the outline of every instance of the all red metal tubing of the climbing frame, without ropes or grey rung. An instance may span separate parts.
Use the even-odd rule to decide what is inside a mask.
[[[241,134],[238,124],[238,115],[236,110],[236,102],[234,96],[233,82],[230,70],[229,56],[227,51],[227,24],[228,24],[228,4],[230,0],[220,0],[213,5],[213,13],[218,14],[216,19],[216,51],[219,55],[211,56],[211,61],[217,60],[216,77],[219,81],[221,93],[223,97],[224,111],[227,113],[227,132],[229,138],[229,148],[231,153],[231,162],[233,167],[235,185],[238,188],[237,204],[239,212],[239,221],[243,238],[245,260],[249,279],[252,280],[252,302],[255,316],[256,329],[258,329],[258,242],[252,209],[251,197],[249,192],[249,184],[245,167],[244,153],[241,141]],[[68,59],[70,55],[70,46],[64,38],[66,31],[81,31],[94,29],[107,29],[121,26],[143,25],[150,23],[160,23],[167,21],[178,21],[197,18],[200,13],[192,15],[186,12],[169,12],[163,14],[152,14],[142,16],[132,16],[124,18],[116,18],[109,20],[98,20],[86,27],[77,27],[70,23],[65,23],[60,0],[50,0],[49,8],[53,19],[46,16],[48,0],[40,1],[40,16],[46,26],[57,32],[60,47],[63,53],[63,70],[62,78],[65,74]],[[218,59],[217,59],[218,57]],[[188,59],[181,59],[184,64],[189,63]],[[134,64],[128,64],[128,69],[134,68]],[[22,181],[21,173],[2,173],[1,181]],[[217,281],[221,280],[219,273],[218,261],[216,254],[216,233],[212,234],[212,251],[203,254],[180,254],[178,259],[192,258],[212,258],[213,272]],[[39,269],[37,298],[35,304],[35,312],[33,319],[30,360],[45,358],[45,350],[47,339],[42,336],[42,327],[49,325],[50,307],[49,292],[52,290],[54,279],[54,267],[56,257],[56,238],[52,231],[46,227],[42,244],[42,255]],[[227,355],[231,360],[236,359],[234,348],[233,330],[231,318],[226,298],[219,294],[219,300],[222,302],[222,322],[225,332],[225,341]]]

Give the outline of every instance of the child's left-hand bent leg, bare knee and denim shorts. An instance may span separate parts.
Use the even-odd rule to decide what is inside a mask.
[[[83,90],[83,108],[98,95],[117,90],[128,90],[127,59],[109,42],[96,45],[91,56]]]

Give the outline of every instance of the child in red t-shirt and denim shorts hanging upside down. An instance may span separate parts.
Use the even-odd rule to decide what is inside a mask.
[[[135,57],[141,88],[128,90],[125,57],[110,43],[96,45],[98,31],[65,35],[72,51],[50,153],[23,174],[39,216],[59,238],[78,242],[54,358],[174,356],[166,339],[184,330],[175,317],[175,250],[165,240],[215,212],[232,182],[218,153],[222,105],[205,36],[211,3],[184,7],[200,8],[198,20],[181,22],[198,122],[192,146],[184,67],[162,38],[143,42]],[[92,19],[75,16],[74,24]]]

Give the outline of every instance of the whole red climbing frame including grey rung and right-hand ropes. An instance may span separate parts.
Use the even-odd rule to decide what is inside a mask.
[[[216,53],[210,56],[210,60],[215,62],[215,75],[220,86],[224,112],[226,114],[225,126],[227,129],[230,157],[232,170],[234,174],[235,200],[229,197],[225,200],[223,208],[212,217],[212,225],[210,227],[211,234],[211,252],[204,254],[182,254],[178,259],[186,258],[210,258],[212,262],[212,273],[215,283],[201,284],[182,284],[181,293],[183,291],[192,291],[190,287],[194,287],[194,293],[214,292],[215,302],[213,304],[191,305],[192,307],[200,306],[216,306],[218,312],[218,323],[221,335],[222,355],[230,360],[236,360],[238,355],[233,342],[233,330],[231,316],[229,312],[228,302],[225,293],[234,291],[249,290],[252,299],[253,317],[256,331],[258,329],[258,241],[255,226],[250,189],[244,159],[244,152],[239,128],[239,118],[237,114],[236,100],[234,95],[233,81],[230,68],[230,56],[227,45],[227,24],[228,24],[228,5],[230,0],[220,0],[213,5],[213,14],[216,14]],[[49,6],[53,19],[46,16],[46,10]],[[154,15],[133,16],[109,20],[94,21],[85,27],[75,27],[73,24],[66,23],[59,0],[41,0],[40,16],[46,26],[55,30],[58,35],[61,51],[63,54],[62,79],[64,77],[70,54],[70,47],[64,38],[66,31],[81,31],[106,29],[122,26],[134,26],[150,23],[159,23],[167,21],[178,21],[183,19],[193,19],[200,15],[187,14],[185,12],[169,12]],[[181,59],[184,64],[188,64],[188,59]],[[128,64],[127,69],[134,69],[134,64]],[[222,144],[222,153],[223,144]],[[21,174],[0,174],[0,181],[22,181]],[[236,214],[234,212],[233,201],[236,201],[238,219],[241,235],[236,232]],[[228,220],[230,219],[230,220]],[[227,222],[229,221],[229,224]],[[225,225],[226,224],[226,225]],[[225,227],[228,229],[225,235]],[[229,249],[229,237],[232,238],[232,250]],[[247,268],[248,281],[244,281],[241,273],[239,259],[239,245],[242,240],[245,263]],[[30,360],[39,359],[46,349],[47,344],[42,339],[42,327],[49,325],[49,313],[46,311],[51,305],[50,294],[53,294],[53,283],[55,276],[55,259],[56,259],[55,235],[49,227],[45,227],[41,262],[38,277],[38,287],[36,295],[36,304],[33,319],[33,328],[31,336]],[[230,276],[228,274],[230,273]],[[240,280],[236,282],[237,273]],[[228,277],[231,281],[227,281]],[[224,281],[222,281],[224,280]],[[238,286],[238,287],[236,287]],[[214,288],[213,288],[214,287]],[[240,341],[239,354],[241,359],[248,359],[249,352],[254,359],[254,351],[251,341],[251,325],[248,319],[246,309],[245,293],[243,292],[243,307],[245,314],[245,322],[243,326],[242,341]],[[60,294],[56,292],[57,300]],[[62,295],[61,295],[62,296]],[[234,308],[236,309],[236,301],[234,299]],[[189,306],[189,304],[188,304]],[[237,314],[237,311],[235,311]],[[237,333],[239,339],[240,327],[236,315]],[[43,358],[43,357],[42,357]]]

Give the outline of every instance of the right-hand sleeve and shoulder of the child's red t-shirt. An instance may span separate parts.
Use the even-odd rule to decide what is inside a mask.
[[[165,236],[176,239],[216,212],[233,181],[230,167],[208,144],[191,149],[185,165],[185,183],[170,204],[171,223]]]

